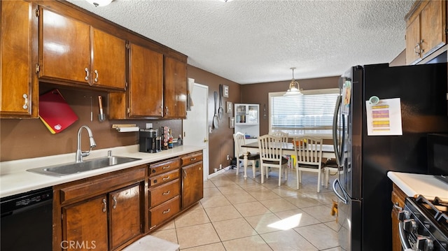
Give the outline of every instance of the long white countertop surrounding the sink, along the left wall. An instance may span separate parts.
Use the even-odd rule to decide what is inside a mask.
[[[22,192],[29,192],[31,190],[40,189],[43,187],[59,185],[82,178],[88,178],[94,175],[109,173],[111,171],[118,171],[124,168],[130,168],[132,166],[138,166],[150,162],[157,162],[162,159],[169,159],[171,157],[176,157],[189,152],[196,152],[203,149],[204,148],[197,146],[181,145],[169,150],[162,150],[158,153],[146,153],[139,152],[139,145],[129,145],[118,148],[93,150],[90,156],[84,157],[83,159],[87,160],[97,157],[106,157],[107,151],[111,150],[113,156],[132,157],[141,160],[125,164],[118,164],[106,168],[99,168],[92,171],[85,171],[83,173],[65,175],[62,177],[31,173],[27,171],[27,169],[74,162],[75,153],[31,159],[20,159],[10,162],[0,162],[0,198],[14,194],[20,194]]]

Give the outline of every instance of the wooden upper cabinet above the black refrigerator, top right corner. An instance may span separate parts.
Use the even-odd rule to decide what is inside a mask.
[[[447,1],[416,1],[406,24],[406,63],[415,64],[447,43]]]

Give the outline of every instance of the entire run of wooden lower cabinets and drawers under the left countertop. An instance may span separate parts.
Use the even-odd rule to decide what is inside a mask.
[[[56,185],[53,250],[121,250],[202,199],[202,151]]]

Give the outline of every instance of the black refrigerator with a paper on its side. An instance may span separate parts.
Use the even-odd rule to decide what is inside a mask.
[[[428,172],[426,135],[448,132],[447,64],[353,66],[339,79],[339,89],[333,138],[342,170],[332,184],[338,197],[339,245],[351,251],[391,250],[392,182],[387,172]],[[367,116],[374,117],[367,106],[398,98],[401,135],[378,135],[382,133],[374,131],[371,118],[367,124]],[[390,116],[396,126],[396,113]]]

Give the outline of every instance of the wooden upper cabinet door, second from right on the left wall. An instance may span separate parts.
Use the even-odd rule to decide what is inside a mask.
[[[162,117],[163,55],[130,46],[130,117]]]

